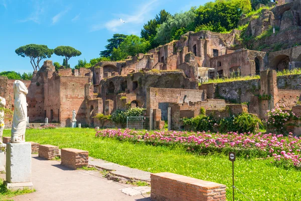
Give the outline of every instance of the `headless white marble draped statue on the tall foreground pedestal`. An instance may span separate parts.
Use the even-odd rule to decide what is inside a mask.
[[[25,84],[20,80],[16,80],[14,82],[15,111],[11,135],[12,143],[25,142],[28,106],[26,103],[27,93],[28,89]]]

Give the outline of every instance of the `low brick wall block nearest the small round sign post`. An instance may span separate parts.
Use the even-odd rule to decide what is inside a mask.
[[[206,201],[226,200],[226,185],[179,174],[150,174],[152,200]]]

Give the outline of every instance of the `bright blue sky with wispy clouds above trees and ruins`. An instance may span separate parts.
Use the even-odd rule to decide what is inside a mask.
[[[99,51],[104,50],[106,40],[114,33],[140,36],[143,24],[162,9],[174,14],[206,2],[0,0],[0,72],[32,72],[30,59],[15,53],[18,47],[31,43],[49,48],[68,45],[80,50],[81,56],[69,60],[74,67],[78,59],[99,57]],[[62,64],[63,57],[52,55],[50,60]]]

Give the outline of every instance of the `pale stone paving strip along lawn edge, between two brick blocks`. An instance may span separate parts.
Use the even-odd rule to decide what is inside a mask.
[[[137,179],[141,181],[150,181],[150,172],[126,167],[116,163],[107,162],[101,159],[92,158],[89,156],[89,164],[106,169],[111,173],[127,179]]]

